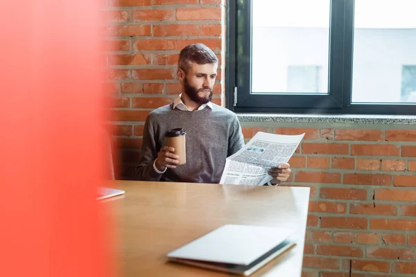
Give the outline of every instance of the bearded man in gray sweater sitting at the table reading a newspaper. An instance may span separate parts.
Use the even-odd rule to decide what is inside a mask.
[[[135,179],[219,184],[225,159],[243,148],[244,139],[236,114],[211,102],[218,59],[204,44],[191,44],[180,51],[177,67],[182,93],[146,118]],[[187,133],[187,163],[181,166],[166,146],[165,134],[175,128]],[[290,177],[291,169],[281,164],[269,174],[268,185],[275,186]]]

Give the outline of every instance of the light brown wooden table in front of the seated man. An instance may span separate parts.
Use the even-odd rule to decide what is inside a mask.
[[[229,276],[166,260],[168,252],[224,224],[293,230],[297,246],[252,276],[301,276],[309,188],[141,181],[109,186],[125,190],[102,202],[116,222],[119,276]]]

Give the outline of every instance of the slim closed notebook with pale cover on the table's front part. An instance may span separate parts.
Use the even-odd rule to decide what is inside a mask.
[[[175,262],[248,276],[293,247],[290,235],[286,229],[229,224],[167,256]]]

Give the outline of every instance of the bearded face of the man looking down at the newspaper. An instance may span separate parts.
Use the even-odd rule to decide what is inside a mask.
[[[201,105],[211,101],[217,67],[217,64],[192,63],[183,78],[184,93]]]

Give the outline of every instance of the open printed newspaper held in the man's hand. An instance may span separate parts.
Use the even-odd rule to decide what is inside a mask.
[[[270,168],[287,163],[295,153],[304,134],[286,136],[257,132],[255,136],[225,160],[220,184],[262,186],[272,177]]]

